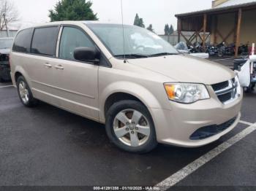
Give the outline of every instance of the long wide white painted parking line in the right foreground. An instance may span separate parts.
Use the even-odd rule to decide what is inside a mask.
[[[241,131],[241,133],[236,134],[236,136],[233,136],[224,143],[220,144],[218,147],[215,147],[211,151],[207,152],[206,155],[203,155],[199,157],[197,160],[194,160],[192,163],[189,163],[189,165],[185,166],[175,174],[169,176],[167,179],[163,180],[162,182],[159,182],[155,187],[159,187],[160,190],[167,190],[170,187],[173,187],[173,185],[177,184],[182,179],[189,176],[189,174],[192,174],[198,168],[205,165],[214,157],[217,157],[217,155],[221,154],[222,152],[231,147],[233,144],[236,144],[236,142],[240,141],[241,139],[244,139],[245,136],[248,136],[255,130],[256,123],[252,124],[248,128],[245,128],[244,130]]]

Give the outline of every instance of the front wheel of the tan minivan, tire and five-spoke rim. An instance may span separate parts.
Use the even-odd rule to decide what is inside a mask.
[[[118,101],[110,106],[106,132],[113,144],[127,152],[146,153],[157,147],[151,114],[139,101]]]

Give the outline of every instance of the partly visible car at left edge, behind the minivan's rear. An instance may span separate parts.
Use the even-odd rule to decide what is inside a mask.
[[[9,55],[12,42],[12,38],[0,38],[0,81],[11,79]]]

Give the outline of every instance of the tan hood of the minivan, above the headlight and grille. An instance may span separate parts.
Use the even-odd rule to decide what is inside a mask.
[[[131,59],[129,63],[170,77],[176,82],[212,85],[235,77],[234,72],[226,66],[190,55]]]

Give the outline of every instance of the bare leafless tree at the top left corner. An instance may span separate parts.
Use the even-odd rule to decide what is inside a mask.
[[[18,11],[10,0],[0,0],[0,31],[8,24],[18,20]]]

